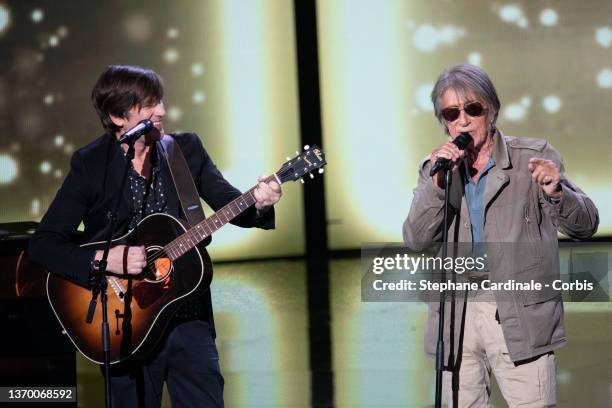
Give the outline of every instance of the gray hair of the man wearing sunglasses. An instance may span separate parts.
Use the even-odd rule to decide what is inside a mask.
[[[436,118],[442,125],[446,124],[442,117],[442,96],[449,89],[461,96],[474,94],[485,103],[486,108],[493,111],[492,124],[495,124],[501,104],[491,78],[482,68],[470,64],[457,64],[440,74],[431,91],[431,101],[434,104]]]

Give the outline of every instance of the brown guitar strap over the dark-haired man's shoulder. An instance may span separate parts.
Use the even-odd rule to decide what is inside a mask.
[[[166,158],[174,187],[178,193],[179,202],[189,227],[193,227],[206,218],[198,190],[187,166],[187,161],[181,148],[170,135],[164,135],[161,140],[162,154]]]

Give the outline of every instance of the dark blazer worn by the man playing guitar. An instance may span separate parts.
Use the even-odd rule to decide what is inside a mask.
[[[200,197],[211,208],[216,211],[241,194],[223,178],[195,133],[181,133],[174,137],[187,160]],[[83,222],[82,242],[104,239],[107,213],[112,210],[121,186],[125,160],[111,134],[99,137],[74,153],[64,183],[30,240],[31,259],[51,273],[89,286],[95,249],[80,248],[74,234]],[[180,217],[178,195],[165,159],[161,160],[160,174],[167,196],[167,212]],[[129,183],[126,183],[122,195],[115,238],[127,232],[131,220],[133,203]],[[274,210],[258,217],[255,207],[251,207],[232,223],[241,227],[271,229],[274,228]]]

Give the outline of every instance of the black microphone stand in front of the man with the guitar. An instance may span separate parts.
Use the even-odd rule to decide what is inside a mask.
[[[107,309],[107,280],[106,280],[106,267],[108,266],[108,253],[111,248],[111,243],[113,240],[113,233],[115,232],[115,227],[117,225],[117,212],[119,211],[119,204],[121,203],[121,196],[123,194],[123,189],[125,188],[125,183],[128,175],[128,170],[130,168],[130,163],[134,158],[134,143],[136,140],[129,140],[125,143],[128,145],[127,153],[125,154],[126,161],[125,167],[123,170],[123,177],[121,178],[121,187],[119,188],[119,194],[117,194],[117,198],[115,200],[115,206],[113,211],[109,211],[106,215],[108,218],[107,225],[107,235],[106,242],[104,245],[104,252],[102,254],[102,259],[94,261],[94,271],[95,273],[90,278],[90,284],[92,286],[92,297],[91,302],[89,303],[89,309],[87,310],[87,317],[85,321],[88,324],[91,324],[93,321],[94,313],[97,305],[97,298],[100,295],[100,302],[102,303],[102,348],[104,350],[104,406],[106,408],[111,408],[112,406],[112,395],[111,395],[111,383],[110,383],[110,330],[108,327],[108,309]]]

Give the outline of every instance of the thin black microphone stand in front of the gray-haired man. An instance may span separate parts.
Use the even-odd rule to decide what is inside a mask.
[[[452,172],[450,162],[444,167],[444,223],[442,226],[442,259],[448,255],[448,223],[449,200]],[[441,282],[446,280],[446,269],[440,272]],[[442,371],[444,370],[444,309],[446,306],[446,291],[440,293],[440,313],[438,316],[438,342],[436,344],[436,396],[435,408],[442,406]]]

